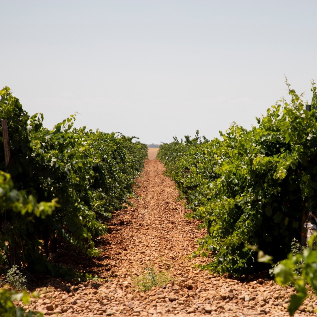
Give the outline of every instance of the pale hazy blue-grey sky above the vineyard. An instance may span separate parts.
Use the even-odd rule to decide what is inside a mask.
[[[52,127],[144,143],[249,128],[282,96],[311,99],[317,1],[0,0],[0,86]]]

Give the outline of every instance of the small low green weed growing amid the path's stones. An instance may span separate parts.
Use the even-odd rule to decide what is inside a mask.
[[[146,267],[139,276],[132,278],[134,286],[141,292],[149,291],[152,287],[168,284],[172,279],[166,272],[157,273],[152,265]]]

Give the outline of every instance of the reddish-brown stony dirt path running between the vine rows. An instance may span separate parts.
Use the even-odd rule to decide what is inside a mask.
[[[63,283],[38,288],[40,299],[31,308],[44,315],[68,316],[288,316],[293,289],[273,281],[239,282],[195,268],[202,259],[189,259],[196,240],[205,235],[197,222],[184,218],[172,180],[158,160],[146,160],[134,206],[113,215],[109,234],[98,241],[102,254],[94,269],[102,281],[65,288]],[[79,259],[80,261],[80,259]],[[134,285],[142,272],[165,272],[165,286],[142,293]],[[313,316],[314,297],[295,316]]]

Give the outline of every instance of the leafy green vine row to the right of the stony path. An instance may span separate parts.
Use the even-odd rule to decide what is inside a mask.
[[[289,87],[290,101],[278,101],[251,130],[232,124],[220,139],[197,132],[160,146],[158,158],[187,199],[189,216],[207,228],[194,254],[210,257],[204,268],[232,275],[259,272],[268,264],[257,262],[250,246],[278,262],[294,238],[303,241],[303,224],[317,208],[314,83],[312,92],[311,111]]]

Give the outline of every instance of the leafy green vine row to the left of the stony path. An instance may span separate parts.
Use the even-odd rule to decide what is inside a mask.
[[[74,128],[74,116],[47,129],[43,115],[29,116],[8,87],[0,91],[0,118],[8,122],[11,155],[5,167],[1,134],[0,170],[9,175],[1,174],[0,181],[14,186],[10,204],[0,188],[0,268],[48,271],[49,255],[63,243],[95,254],[94,238],[105,233],[105,220],[132,194],[146,145]],[[14,207],[15,201],[21,204]]]

